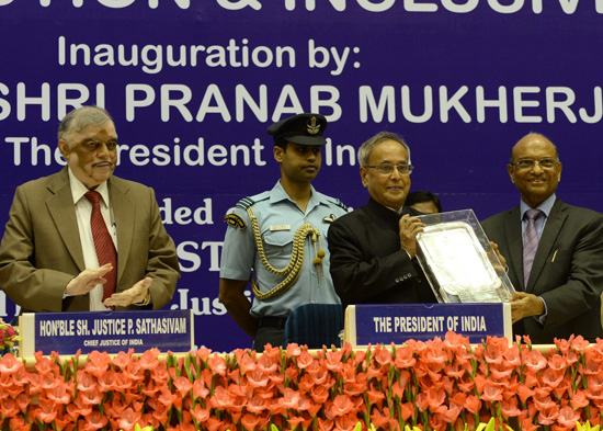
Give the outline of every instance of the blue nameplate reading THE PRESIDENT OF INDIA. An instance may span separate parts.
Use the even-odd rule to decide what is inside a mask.
[[[479,343],[488,336],[512,341],[511,305],[359,304],[345,309],[344,337],[353,347],[443,339],[447,331],[468,337],[470,343]]]

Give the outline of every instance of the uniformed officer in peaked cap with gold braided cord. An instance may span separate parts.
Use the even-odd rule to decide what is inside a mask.
[[[259,352],[266,343],[281,345],[294,308],[341,303],[329,272],[327,230],[346,208],[311,185],[320,170],[326,128],[319,114],[271,125],[281,179],[272,190],[239,201],[225,217],[219,299]],[[253,305],[244,295],[248,283]]]

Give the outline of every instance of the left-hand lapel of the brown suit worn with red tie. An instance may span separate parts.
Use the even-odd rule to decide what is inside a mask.
[[[86,270],[86,263],[83,261],[78,219],[76,217],[73,195],[69,186],[69,173],[67,168],[65,168],[59,175],[54,178],[48,184],[48,190],[53,193],[46,201],[48,212],[65,242],[65,248],[76,262],[78,269],[83,271]]]

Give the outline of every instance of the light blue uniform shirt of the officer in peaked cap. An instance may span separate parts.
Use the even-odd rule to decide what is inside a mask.
[[[317,241],[316,250],[321,248],[325,251],[322,264],[315,265],[315,246],[311,237],[306,237],[299,279],[281,295],[265,300],[254,298],[251,315],[286,317],[304,304],[341,304],[329,272],[327,230],[332,220],[345,214],[346,209],[338,200],[318,193],[314,186],[306,213],[288,196],[281,181],[271,191],[239,202],[235,214],[244,220],[247,227],[241,230],[228,226],[221,249],[220,277],[249,280],[253,269],[255,283],[262,292],[270,292],[286,277],[268,271],[260,259],[249,214],[241,207],[249,201],[253,201],[251,208],[258,218],[264,252],[272,266],[282,270],[289,263],[295,231],[306,223],[320,230],[321,247]]]

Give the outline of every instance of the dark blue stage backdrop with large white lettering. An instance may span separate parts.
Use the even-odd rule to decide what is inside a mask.
[[[178,245],[169,307],[194,310],[198,347],[250,347],[218,300],[223,219],[277,180],[271,123],[327,116],[315,185],[352,207],[379,131],[445,211],[516,205],[507,161],[534,131],[559,148],[558,195],[601,211],[602,43],[603,0],[0,0],[0,224],[16,185],[64,165],[65,113],[105,106],[115,174],[155,188]]]

